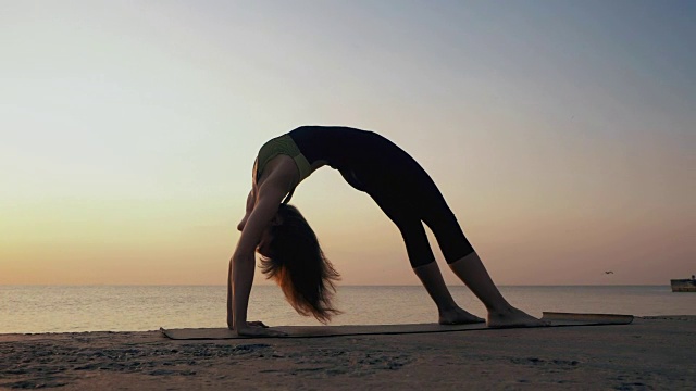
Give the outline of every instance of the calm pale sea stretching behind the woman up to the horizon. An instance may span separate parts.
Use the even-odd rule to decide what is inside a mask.
[[[533,315],[542,311],[632,315],[696,315],[696,293],[669,286],[500,287],[504,295]],[[451,287],[464,308],[485,315],[464,287]],[[210,287],[35,287],[0,286],[0,333],[136,331],[164,327],[224,327],[226,288]],[[435,306],[422,287],[340,287],[335,325],[430,323]],[[268,325],[315,325],[297,315],[274,286],[251,292],[249,319]]]

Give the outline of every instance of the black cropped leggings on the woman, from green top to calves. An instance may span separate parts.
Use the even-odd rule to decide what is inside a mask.
[[[345,127],[307,126],[289,135],[310,164],[326,161],[377,203],[399,228],[412,267],[435,261],[423,223],[435,235],[447,263],[474,252],[433,179],[391,141]]]

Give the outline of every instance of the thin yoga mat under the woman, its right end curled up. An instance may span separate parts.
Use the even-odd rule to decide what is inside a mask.
[[[551,323],[550,327],[569,326],[604,326],[629,325],[633,321],[633,315],[614,314],[573,314],[545,312],[542,317]],[[499,330],[489,328],[486,324],[475,325],[438,325],[438,324],[407,324],[407,325],[363,325],[363,326],[277,326],[275,330],[286,332],[283,337],[239,337],[227,328],[183,328],[164,329],[160,331],[173,340],[222,340],[222,339],[251,339],[251,338],[321,338],[340,336],[376,336],[376,335],[406,335],[424,332],[455,332],[475,330]]]

